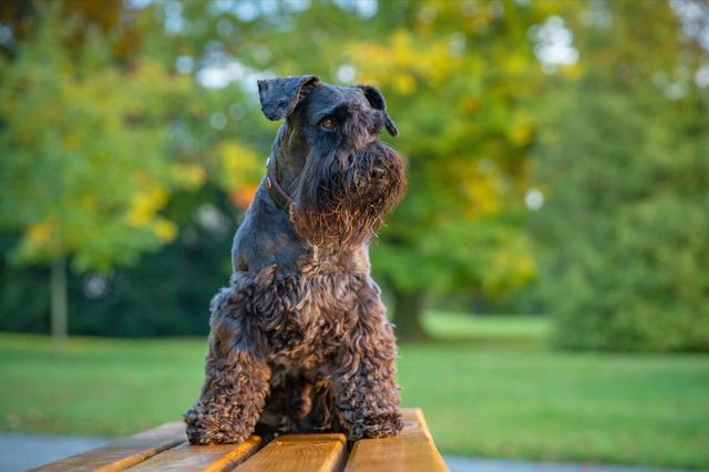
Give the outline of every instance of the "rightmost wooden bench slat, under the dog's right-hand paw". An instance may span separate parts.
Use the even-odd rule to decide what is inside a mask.
[[[346,472],[446,472],[423,413],[402,410],[404,429],[394,438],[362,439],[354,443]]]

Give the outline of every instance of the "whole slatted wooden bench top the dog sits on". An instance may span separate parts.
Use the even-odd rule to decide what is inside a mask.
[[[348,451],[345,435],[285,434],[264,444],[191,445],[182,422],[165,423],[33,471],[438,472],[448,471],[420,409],[402,411],[395,438],[363,439]]]

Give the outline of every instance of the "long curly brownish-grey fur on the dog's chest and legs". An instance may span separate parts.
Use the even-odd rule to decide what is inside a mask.
[[[300,269],[237,273],[212,301],[207,382],[185,417],[193,443],[240,442],[259,419],[278,432],[350,439],[401,429],[394,336],[379,287],[366,271],[342,274],[327,261]]]

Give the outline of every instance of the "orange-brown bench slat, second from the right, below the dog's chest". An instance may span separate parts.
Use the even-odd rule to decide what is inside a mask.
[[[237,472],[330,472],[346,456],[343,434],[285,434],[274,439]]]

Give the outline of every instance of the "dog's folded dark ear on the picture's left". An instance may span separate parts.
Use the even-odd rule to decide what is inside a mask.
[[[271,121],[288,116],[302,99],[304,92],[318,83],[318,81],[317,75],[298,75],[257,81],[261,111]]]

